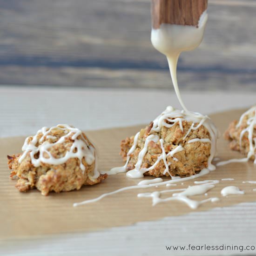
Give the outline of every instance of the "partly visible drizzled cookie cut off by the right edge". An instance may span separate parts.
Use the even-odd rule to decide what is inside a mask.
[[[256,151],[256,106],[241,115],[239,121],[234,120],[224,133],[229,141],[229,148],[240,151],[248,160],[255,160]]]

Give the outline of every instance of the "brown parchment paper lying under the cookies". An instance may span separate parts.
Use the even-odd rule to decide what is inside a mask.
[[[244,110],[234,110],[211,115],[221,133],[227,128],[230,121],[238,119]],[[87,132],[90,139],[96,144],[99,151],[99,167],[109,170],[121,166],[123,162],[119,154],[121,139],[134,135],[140,127],[113,128]],[[36,132],[36,131],[35,131]],[[137,194],[152,190],[167,189],[165,186],[149,189],[128,190],[108,196],[99,202],[90,203],[74,208],[74,202],[91,199],[125,186],[137,184],[140,180],[129,179],[125,174],[111,175],[101,184],[83,187],[79,191],[50,193],[42,196],[36,189],[27,193],[20,193],[14,188],[15,181],[9,179],[10,171],[7,168],[7,154],[19,153],[24,137],[0,139],[0,238],[23,238],[36,235],[58,234],[67,232],[92,231],[114,226],[130,225],[135,222],[159,219],[165,216],[177,216],[191,211],[205,211],[214,207],[229,206],[239,202],[256,200],[256,184],[242,183],[256,181],[256,167],[252,162],[233,163],[218,167],[209,175],[197,180],[220,180],[216,188],[209,190],[208,196],[217,196],[219,202],[205,203],[198,209],[190,209],[182,202],[166,202],[151,206],[150,198],[138,198]],[[218,141],[218,152],[221,160],[243,157],[228,148],[227,141],[222,137]],[[147,177],[148,178],[148,177]],[[234,178],[234,181],[221,181],[222,178]],[[177,183],[176,187],[185,188],[193,185],[194,180]],[[223,187],[235,185],[245,190],[245,195],[230,195],[222,197]],[[207,196],[207,197],[208,197]],[[192,198],[202,200],[205,195]]]

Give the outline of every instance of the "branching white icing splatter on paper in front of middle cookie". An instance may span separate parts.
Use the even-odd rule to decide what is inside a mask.
[[[215,186],[212,184],[203,184],[203,185],[195,185],[189,186],[187,189],[169,189],[169,190],[162,190],[162,191],[154,191],[152,193],[141,193],[138,194],[138,197],[151,197],[152,198],[152,205],[155,206],[160,202],[168,202],[168,201],[181,201],[185,202],[190,208],[196,209],[199,205],[205,202],[216,202],[219,201],[217,197],[210,197],[208,199],[202,201],[196,201],[190,199],[188,196],[193,195],[202,195],[205,194],[208,190],[213,189]],[[161,195],[163,193],[169,193],[174,191],[181,191],[180,193],[174,193],[172,196],[162,199]]]

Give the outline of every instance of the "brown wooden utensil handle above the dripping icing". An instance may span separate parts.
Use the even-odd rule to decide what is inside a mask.
[[[152,27],[162,23],[197,26],[208,0],[152,0]]]

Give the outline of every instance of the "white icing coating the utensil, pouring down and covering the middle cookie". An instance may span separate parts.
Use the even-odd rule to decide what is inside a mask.
[[[218,136],[217,130],[214,127],[214,125],[209,121],[208,116],[203,116],[199,113],[193,113],[188,111],[188,109],[186,108],[186,106],[182,101],[179,88],[178,88],[177,76],[176,76],[176,69],[177,69],[177,62],[178,62],[179,55],[183,51],[193,50],[200,45],[207,18],[208,18],[207,12],[204,11],[200,17],[197,27],[162,24],[159,29],[151,30],[151,42],[159,52],[161,52],[162,54],[165,54],[167,57],[171,78],[175,88],[175,93],[183,108],[182,111],[179,111],[179,110],[175,110],[172,107],[168,107],[160,116],[158,116],[155,119],[153,128],[151,130],[158,132],[160,131],[162,126],[170,128],[173,125],[175,125],[175,123],[178,122],[181,130],[183,131],[182,121],[183,120],[192,121],[193,123],[189,128],[188,133],[185,135],[184,137],[185,139],[192,129],[195,130],[199,128],[201,125],[204,125],[209,130],[211,141],[209,139],[198,138],[195,140],[191,140],[190,143],[195,141],[211,143],[211,152],[208,160],[208,168],[209,170],[214,170],[215,166],[211,162],[216,153],[216,137]],[[167,120],[168,123],[165,120]],[[169,122],[171,122],[171,124]],[[195,123],[199,123],[199,124],[196,127],[194,127]],[[127,173],[128,177],[130,178],[143,177],[143,173],[147,172],[150,169],[155,168],[155,165],[158,164],[158,162],[160,162],[161,160],[164,162],[166,167],[164,170],[164,174],[168,173],[170,175],[168,171],[169,163],[167,163],[166,157],[168,155],[171,155],[174,158],[174,160],[177,161],[177,159],[174,157],[174,154],[179,151],[182,151],[183,148],[181,146],[178,146],[177,148],[173,149],[173,151],[169,152],[166,155],[163,148],[162,139],[161,139],[160,143],[162,148],[162,155],[160,155],[157,158],[155,164],[150,168],[141,168],[141,162],[143,160],[144,155],[147,153],[147,146],[148,146],[148,141],[150,136],[151,135],[149,135],[148,138],[146,139],[144,148],[142,148],[141,152],[139,153],[138,162],[135,164],[135,168],[133,170],[128,171]],[[126,164],[123,167],[117,167],[117,168],[111,169],[109,174],[116,174],[118,172],[126,171],[126,168],[130,159],[130,154],[135,150],[134,146],[136,147],[136,142],[134,142],[133,147],[131,148],[132,150],[128,152]],[[174,152],[175,150],[177,151]]]

